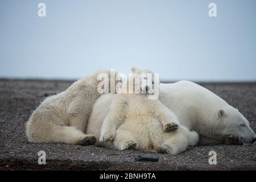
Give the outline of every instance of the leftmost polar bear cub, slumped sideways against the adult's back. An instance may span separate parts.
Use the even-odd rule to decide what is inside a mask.
[[[94,144],[96,138],[84,134],[84,131],[92,106],[101,95],[97,87],[102,81],[98,76],[105,73],[110,78],[110,75],[117,74],[112,72],[112,69],[96,72],[74,82],[64,92],[47,97],[27,122],[28,141]]]

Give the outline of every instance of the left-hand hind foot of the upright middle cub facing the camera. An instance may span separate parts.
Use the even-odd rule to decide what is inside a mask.
[[[129,131],[117,130],[114,139],[114,146],[118,150],[127,150],[130,148],[136,148],[138,143]]]

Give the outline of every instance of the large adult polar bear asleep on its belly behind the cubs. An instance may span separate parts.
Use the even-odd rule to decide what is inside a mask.
[[[97,144],[112,98],[113,94],[98,98],[86,126],[87,134],[96,135]],[[177,115],[181,125],[200,134],[200,144],[242,144],[256,139],[247,119],[203,86],[190,81],[160,84],[159,100]],[[109,142],[102,144],[111,147]]]

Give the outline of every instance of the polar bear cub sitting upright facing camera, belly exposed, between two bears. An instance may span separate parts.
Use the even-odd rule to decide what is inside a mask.
[[[134,74],[152,73],[148,69],[132,68]],[[153,74],[152,74],[153,75]],[[153,77],[153,76],[152,76]],[[130,78],[130,77],[129,77]],[[140,93],[115,94],[110,105],[109,113],[101,127],[100,142],[114,140],[114,148],[126,150],[155,150],[168,154],[179,154],[187,146],[199,142],[199,135],[180,126],[177,117],[158,99],[148,100],[147,85],[139,86]],[[150,85],[154,85],[154,82]]]

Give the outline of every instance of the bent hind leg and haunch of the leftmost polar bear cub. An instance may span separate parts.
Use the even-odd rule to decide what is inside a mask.
[[[50,114],[48,114],[50,113]],[[34,113],[27,122],[27,137],[35,143],[94,144],[96,137],[85,135],[73,126],[67,126],[63,118],[51,111]]]

